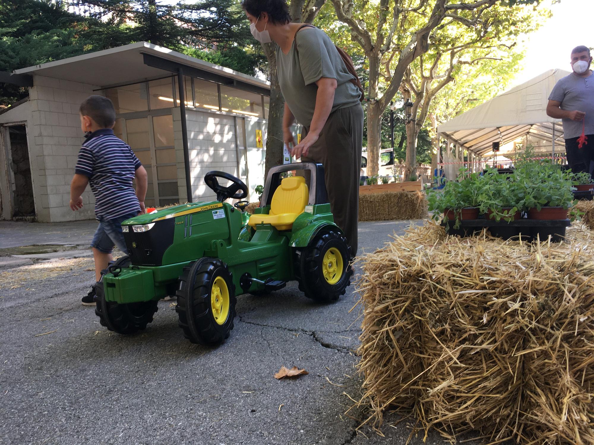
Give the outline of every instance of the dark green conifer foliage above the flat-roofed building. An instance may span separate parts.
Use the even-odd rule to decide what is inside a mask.
[[[203,59],[255,74],[261,53],[251,47],[247,20],[235,0],[170,4],[162,1],[0,0],[0,71],[37,65],[147,40],[182,52],[202,47]],[[212,55],[207,50],[213,44]],[[27,96],[27,88],[0,84],[0,105]]]

